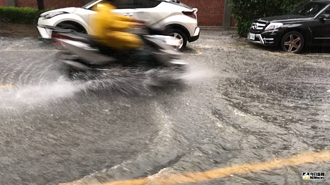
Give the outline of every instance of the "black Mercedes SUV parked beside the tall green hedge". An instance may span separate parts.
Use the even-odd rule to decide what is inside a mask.
[[[289,53],[299,53],[304,46],[330,45],[330,0],[303,4],[289,15],[256,19],[248,39]]]

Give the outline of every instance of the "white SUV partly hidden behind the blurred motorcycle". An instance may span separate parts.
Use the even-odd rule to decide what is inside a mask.
[[[93,7],[102,0],[95,0],[81,8],[63,8],[45,12],[38,20],[38,31],[43,38],[52,38],[52,31],[47,27],[61,27],[93,35],[89,25],[90,15],[96,12]],[[199,38],[197,26],[197,9],[179,1],[171,0],[121,0],[114,12],[145,21],[149,27],[164,29],[169,35],[182,39],[179,49],[183,50],[187,42]],[[139,33],[139,29],[132,30]]]

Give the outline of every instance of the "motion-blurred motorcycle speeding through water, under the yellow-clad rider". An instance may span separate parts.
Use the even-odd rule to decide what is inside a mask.
[[[48,27],[53,31],[53,40],[64,47],[63,63],[71,71],[104,71],[113,66],[129,67],[173,67],[185,70],[187,63],[180,59],[175,50],[182,40],[162,35],[162,31],[141,28],[144,45],[141,49],[118,52],[96,41],[92,36],[73,30]]]

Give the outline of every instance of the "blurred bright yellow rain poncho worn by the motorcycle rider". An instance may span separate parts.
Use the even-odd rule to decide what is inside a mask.
[[[137,25],[131,17],[113,13],[114,6],[104,3],[98,4],[92,17],[92,28],[97,41],[107,47],[125,50],[141,47],[142,40],[134,34],[125,32],[132,26]]]

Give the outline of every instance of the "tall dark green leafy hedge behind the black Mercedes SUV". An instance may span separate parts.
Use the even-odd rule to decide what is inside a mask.
[[[256,18],[283,15],[309,0],[230,0],[237,31],[246,36]]]

